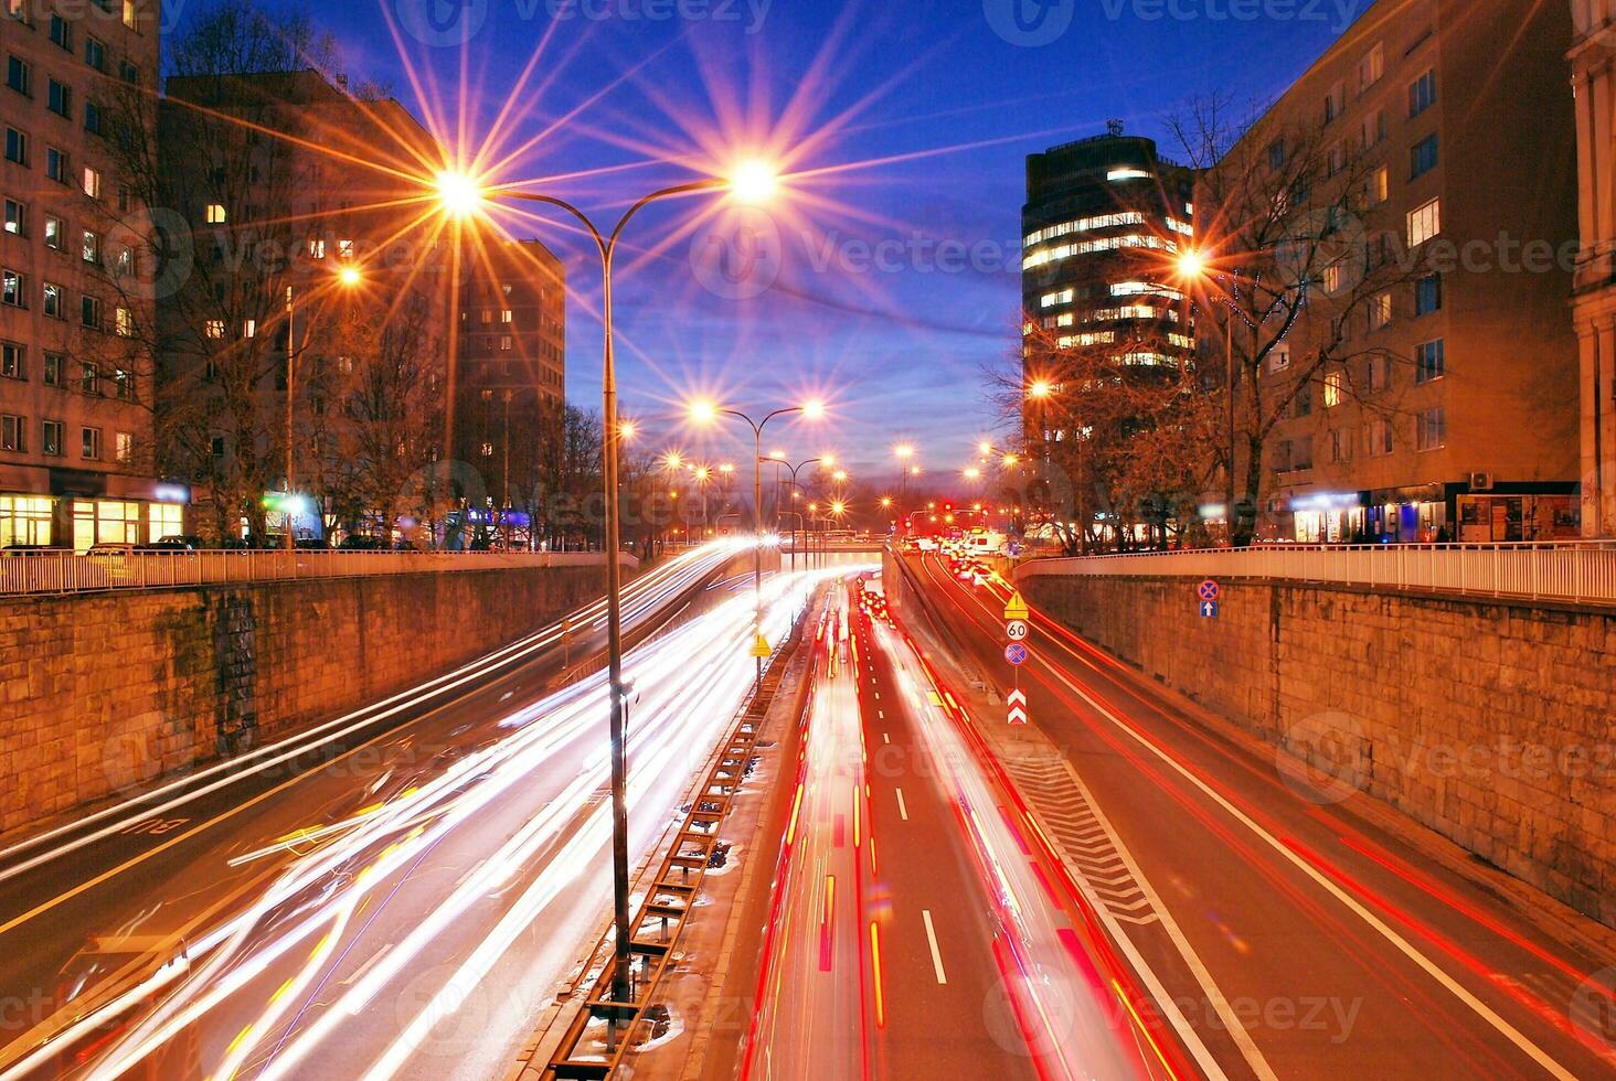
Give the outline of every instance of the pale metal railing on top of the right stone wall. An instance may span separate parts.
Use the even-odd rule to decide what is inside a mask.
[[[1046,575],[1280,578],[1383,590],[1616,604],[1616,541],[1521,545],[1272,545],[1033,559]]]

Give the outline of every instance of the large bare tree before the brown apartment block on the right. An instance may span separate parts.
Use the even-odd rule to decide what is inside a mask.
[[[1367,223],[1385,200],[1378,132],[1345,131],[1324,108],[1304,118],[1251,115],[1235,120],[1227,99],[1204,97],[1168,118],[1202,170],[1196,221],[1207,275],[1196,330],[1210,360],[1204,383],[1235,396],[1236,446],[1220,446],[1217,465],[1233,490],[1238,546],[1257,532],[1275,425],[1322,394],[1395,409],[1369,401],[1370,368],[1408,359],[1370,331],[1390,320],[1396,288],[1424,273],[1422,254],[1408,252],[1401,233]],[[1233,370],[1231,386],[1215,375],[1217,360]]]

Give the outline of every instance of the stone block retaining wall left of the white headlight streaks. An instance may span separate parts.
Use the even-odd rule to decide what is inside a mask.
[[[0,831],[339,716],[604,593],[604,567],[0,598]]]

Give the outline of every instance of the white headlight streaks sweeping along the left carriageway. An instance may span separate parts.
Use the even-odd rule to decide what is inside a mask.
[[[771,640],[789,633],[802,595],[823,577],[829,572],[769,580],[764,627]],[[667,779],[690,776],[696,764],[693,756],[706,755],[703,748],[716,745],[719,729],[750,687],[753,666],[747,648],[751,632],[751,596],[737,595],[630,653],[627,675],[642,701],[630,722],[633,771],[629,797],[643,821],[663,821],[671,813],[677,793],[667,793]],[[609,805],[595,800],[591,806],[608,779],[604,742],[593,740],[603,727],[604,701],[604,675],[575,684],[514,711],[501,722],[504,735],[499,740],[452,761],[436,776],[415,779],[412,787],[391,800],[341,822],[315,827],[312,834],[281,837],[281,845],[302,845],[314,839],[322,843],[292,858],[246,911],[199,936],[189,950],[189,971],[165,965],[0,1076],[23,1076],[42,1065],[57,1047],[141,1002],[150,1002],[155,992],[166,992],[163,1002],[100,1050],[89,1073],[92,1078],[116,1078],[181,1031],[191,1026],[217,1028],[226,1020],[226,1005],[233,1016],[239,1016],[242,1008],[250,1010],[254,987],[267,978],[273,978],[273,987],[259,992],[260,1005],[250,1024],[241,1026],[238,1020],[226,1029],[238,1039],[223,1052],[210,1076],[228,1078],[247,1068],[257,1070],[265,1081],[289,1076],[339,1034],[343,1041],[351,1041],[356,1021],[378,1013],[365,1007],[385,987],[412,974],[412,966],[431,958],[433,949],[441,952],[444,936],[470,934],[454,974],[430,995],[427,1005],[407,1020],[399,1018],[399,1031],[380,1034],[381,1050],[365,1076],[393,1076],[561,890],[580,879],[600,877],[611,824]],[[572,780],[543,806],[522,810],[519,798],[532,779],[545,776],[546,766],[564,753],[570,753],[579,764]],[[569,771],[572,766],[569,763]],[[661,793],[654,798],[663,803],[645,806],[658,785]],[[436,887],[410,876],[415,861],[435,847],[462,835],[472,822],[501,821],[501,816],[507,822],[517,816],[514,827],[499,826],[498,843],[483,850],[473,869],[441,895],[431,895]],[[246,858],[262,858],[275,847]],[[530,879],[514,903],[506,906],[491,900],[527,876]],[[409,898],[415,906],[425,905],[410,911],[410,932],[385,952],[359,953],[372,955],[372,960],[351,978],[343,994],[330,1002],[312,1002],[309,989],[330,981],[331,965],[347,957],[354,947],[352,936],[364,932],[364,927],[354,927],[352,916],[378,892],[383,905],[404,903],[398,890],[404,884],[427,894],[425,898]],[[314,900],[309,900],[310,890],[318,890]],[[503,915],[491,913],[490,905]],[[297,957],[297,945],[310,939],[322,945],[302,955],[289,978],[276,971],[284,970]],[[344,942],[346,949],[338,950]],[[181,981],[181,976],[187,978]],[[275,1050],[265,1058],[262,1049],[270,1045]]]

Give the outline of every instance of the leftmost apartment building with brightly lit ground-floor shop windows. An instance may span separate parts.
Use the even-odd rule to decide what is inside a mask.
[[[184,530],[154,465],[150,215],[115,142],[158,78],[157,0],[0,10],[0,548]],[[150,131],[142,132],[145,141]]]

